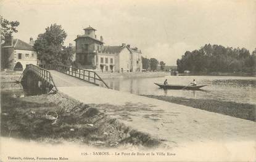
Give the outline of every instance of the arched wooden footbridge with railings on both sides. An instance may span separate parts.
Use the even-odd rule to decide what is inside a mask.
[[[31,71],[36,74],[39,80],[50,85],[48,87],[54,88],[56,91],[58,91],[58,87],[99,86],[101,82],[106,88],[109,88],[104,80],[94,71],[59,64],[47,66],[47,69],[27,64],[26,69],[20,76],[20,81],[27,71]]]

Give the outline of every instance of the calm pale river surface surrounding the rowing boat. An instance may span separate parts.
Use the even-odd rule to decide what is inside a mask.
[[[154,83],[188,85],[196,79],[197,85],[208,85],[201,91],[163,90]],[[138,95],[164,95],[194,99],[216,99],[256,104],[256,77],[230,76],[165,76],[142,79],[105,79],[110,88]]]

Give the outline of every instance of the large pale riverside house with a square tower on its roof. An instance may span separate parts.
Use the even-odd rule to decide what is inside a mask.
[[[141,72],[141,50],[122,44],[104,45],[103,37],[97,39],[96,29],[89,26],[75,39],[76,61],[83,69],[102,72]]]

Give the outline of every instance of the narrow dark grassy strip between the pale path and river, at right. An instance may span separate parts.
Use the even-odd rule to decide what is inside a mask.
[[[142,95],[162,101],[182,104],[209,112],[229,115],[231,117],[243,118],[256,122],[256,106],[237,102],[217,101],[213,99],[188,99],[173,96]]]

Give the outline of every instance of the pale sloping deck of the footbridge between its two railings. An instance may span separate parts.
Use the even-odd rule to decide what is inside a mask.
[[[56,84],[56,87],[83,87],[83,86],[96,86],[92,83],[79,80],[67,74],[63,74],[57,71],[50,71],[52,79]]]

